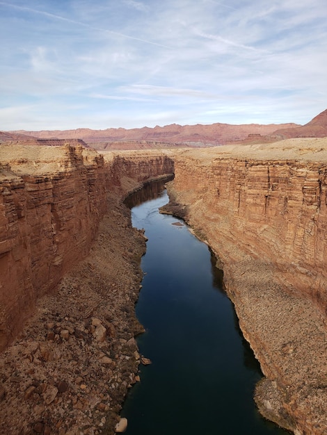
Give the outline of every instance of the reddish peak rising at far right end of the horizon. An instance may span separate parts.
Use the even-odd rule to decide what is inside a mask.
[[[273,134],[280,135],[282,138],[324,138],[327,136],[327,109],[319,113],[308,124],[278,129]]]

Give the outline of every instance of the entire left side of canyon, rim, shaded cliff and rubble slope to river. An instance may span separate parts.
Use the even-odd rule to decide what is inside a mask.
[[[0,433],[113,434],[143,331],[145,238],[122,199],[173,161],[2,145],[0,162]]]

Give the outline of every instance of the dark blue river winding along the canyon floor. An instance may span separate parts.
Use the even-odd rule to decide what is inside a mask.
[[[262,375],[222,272],[184,222],[159,214],[167,202],[163,191],[131,208],[134,227],[148,238],[136,315],[146,330],[138,346],[152,364],[140,366],[141,382],[122,409],[126,434],[288,434],[257,412],[253,391]]]

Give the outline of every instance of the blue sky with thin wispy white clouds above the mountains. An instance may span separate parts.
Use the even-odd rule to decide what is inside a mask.
[[[326,0],[0,1],[0,130],[305,124]]]

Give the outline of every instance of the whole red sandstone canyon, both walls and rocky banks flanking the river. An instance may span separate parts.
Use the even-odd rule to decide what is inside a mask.
[[[264,373],[261,413],[296,435],[326,433],[327,139],[145,151],[65,142],[0,146],[0,428],[114,432],[138,381],[145,249],[122,201],[175,174],[163,211],[217,255]]]

